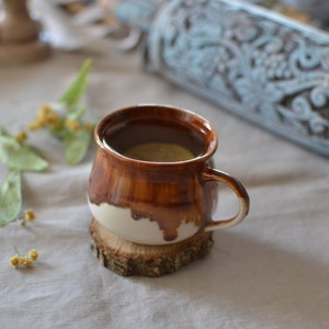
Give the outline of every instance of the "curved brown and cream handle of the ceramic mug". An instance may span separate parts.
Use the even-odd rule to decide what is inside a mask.
[[[245,186],[236,178],[228,173],[212,168],[206,168],[203,171],[203,179],[205,182],[216,181],[228,185],[235,192],[239,201],[239,211],[234,217],[224,220],[212,220],[206,225],[204,230],[209,231],[228,228],[241,223],[248,215],[250,205],[249,195]]]

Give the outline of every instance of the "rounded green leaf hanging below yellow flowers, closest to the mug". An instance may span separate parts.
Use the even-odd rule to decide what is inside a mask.
[[[69,164],[79,163],[88,151],[92,132],[68,133],[64,138],[65,159]]]

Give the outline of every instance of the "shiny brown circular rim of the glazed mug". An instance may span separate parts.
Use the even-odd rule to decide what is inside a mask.
[[[169,162],[167,162],[167,161],[148,161],[148,160],[139,160],[139,159],[126,157],[123,154],[121,154],[120,151],[115,150],[113,147],[111,147],[111,145],[104,144],[101,136],[102,136],[102,133],[104,134],[104,131],[106,129],[106,125],[109,124],[109,121],[111,118],[120,117],[120,116],[125,115],[127,112],[138,111],[140,109],[148,109],[149,111],[151,111],[151,109],[158,109],[158,110],[163,109],[166,111],[171,111],[172,113],[175,113],[178,116],[181,115],[182,122],[184,121],[183,116],[189,115],[191,118],[193,117],[194,121],[197,121],[198,124],[203,127],[204,132],[202,132],[202,134],[200,134],[200,135],[203,136],[204,140],[206,140],[205,151],[202,155],[195,156],[194,158],[188,159],[188,160],[169,161]],[[118,122],[118,120],[117,120],[117,122]],[[189,126],[192,129],[195,129],[194,126],[192,126],[192,125],[189,125]],[[208,136],[209,134],[212,135],[211,140],[206,138],[206,136]],[[186,110],[183,107],[177,107],[177,106],[172,106],[172,105],[157,104],[157,103],[140,103],[137,105],[131,105],[131,106],[117,109],[117,110],[104,115],[99,121],[99,123],[97,124],[97,126],[94,128],[94,140],[103,151],[105,151],[106,154],[111,154],[115,158],[123,160],[126,163],[151,166],[151,167],[155,167],[155,166],[156,167],[172,167],[172,166],[186,164],[186,163],[204,162],[215,154],[217,146],[218,146],[218,137],[217,137],[216,131],[213,128],[209,121],[207,121],[206,118],[196,114],[193,111],[190,111],[190,110]]]

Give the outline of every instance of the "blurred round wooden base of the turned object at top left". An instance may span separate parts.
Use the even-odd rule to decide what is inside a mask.
[[[20,44],[0,43],[0,65],[32,63],[45,59],[49,55],[49,45],[41,41]]]

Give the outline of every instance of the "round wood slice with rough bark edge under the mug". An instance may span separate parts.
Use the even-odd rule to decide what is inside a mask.
[[[213,232],[200,232],[181,242],[164,246],[138,245],[124,240],[95,219],[90,226],[91,249],[100,262],[123,275],[161,276],[208,254]]]

